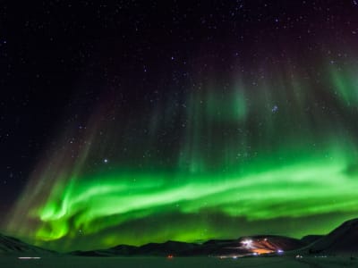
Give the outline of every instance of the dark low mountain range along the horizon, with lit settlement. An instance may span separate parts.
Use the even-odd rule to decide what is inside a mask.
[[[54,251],[31,246],[0,234],[0,255],[54,255]],[[167,241],[141,247],[119,245],[107,249],[74,251],[83,256],[244,256],[244,255],[358,255],[358,219],[344,222],[326,236],[309,235],[303,239],[259,235],[240,239],[209,240],[202,244]]]

